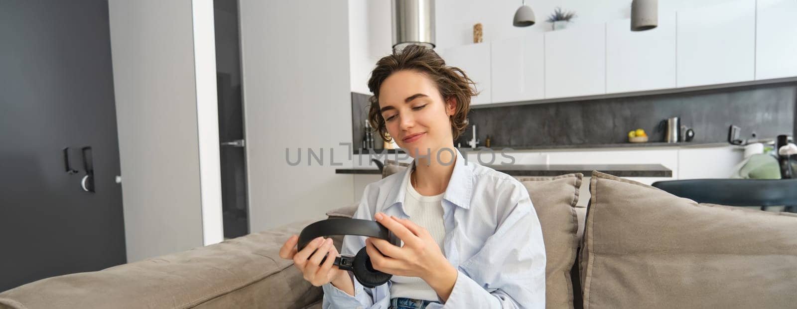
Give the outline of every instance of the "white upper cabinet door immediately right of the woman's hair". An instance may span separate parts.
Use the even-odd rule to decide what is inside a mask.
[[[442,52],[446,65],[455,66],[476,83],[478,96],[470,104],[489,104],[493,101],[490,92],[490,43],[462,45]]]

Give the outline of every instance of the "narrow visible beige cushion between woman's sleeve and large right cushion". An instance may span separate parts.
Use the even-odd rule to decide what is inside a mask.
[[[545,307],[548,308],[573,307],[571,269],[579,245],[575,204],[579,202],[582,178],[582,174],[517,178],[528,190],[542,226],[546,256]]]

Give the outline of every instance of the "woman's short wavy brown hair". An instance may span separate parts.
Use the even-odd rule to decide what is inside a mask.
[[[401,52],[382,57],[376,62],[376,68],[371,71],[371,79],[368,80],[368,89],[374,96],[371,96],[371,108],[368,111],[368,122],[379,136],[386,142],[391,142],[387,138],[387,127],[385,119],[379,113],[379,88],[382,83],[394,72],[410,70],[428,76],[437,85],[438,92],[443,99],[443,104],[450,98],[457,100],[457,111],[450,116],[451,135],[453,140],[457,140],[459,135],[468,127],[468,112],[470,111],[470,98],[478,95],[476,84],[471,80],[461,68],[446,65],[446,61],[435,53],[432,49],[427,49],[419,45],[409,45]]]

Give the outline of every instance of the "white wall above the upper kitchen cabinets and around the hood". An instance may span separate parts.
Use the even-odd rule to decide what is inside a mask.
[[[732,0],[660,0],[659,16],[677,10],[708,6]],[[391,53],[390,1],[349,0],[351,5],[351,91],[369,93],[367,75],[379,57]],[[630,0],[527,0],[537,23],[515,27],[512,17],[521,1],[510,0],[436,0],[435,35],[438,51],[453,46],[473,44],[473,25],[481,22],[484,41],[520,37],[524,33],[549,31],[545,22],[556,6],[574,11],[573,25],[603,25],[630,18]],[[367,12],[367,14],[365,14]],[[356,26],[355,26],[356,25]],[[364,26],[367,25],[367,26]],[[630,25],[629,25],[630,27]]]

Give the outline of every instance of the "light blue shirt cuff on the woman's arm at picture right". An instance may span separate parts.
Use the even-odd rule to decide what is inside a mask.
[[[469,276],[457,270],[457,281],[443,308],[496,308],[501,302]]]

